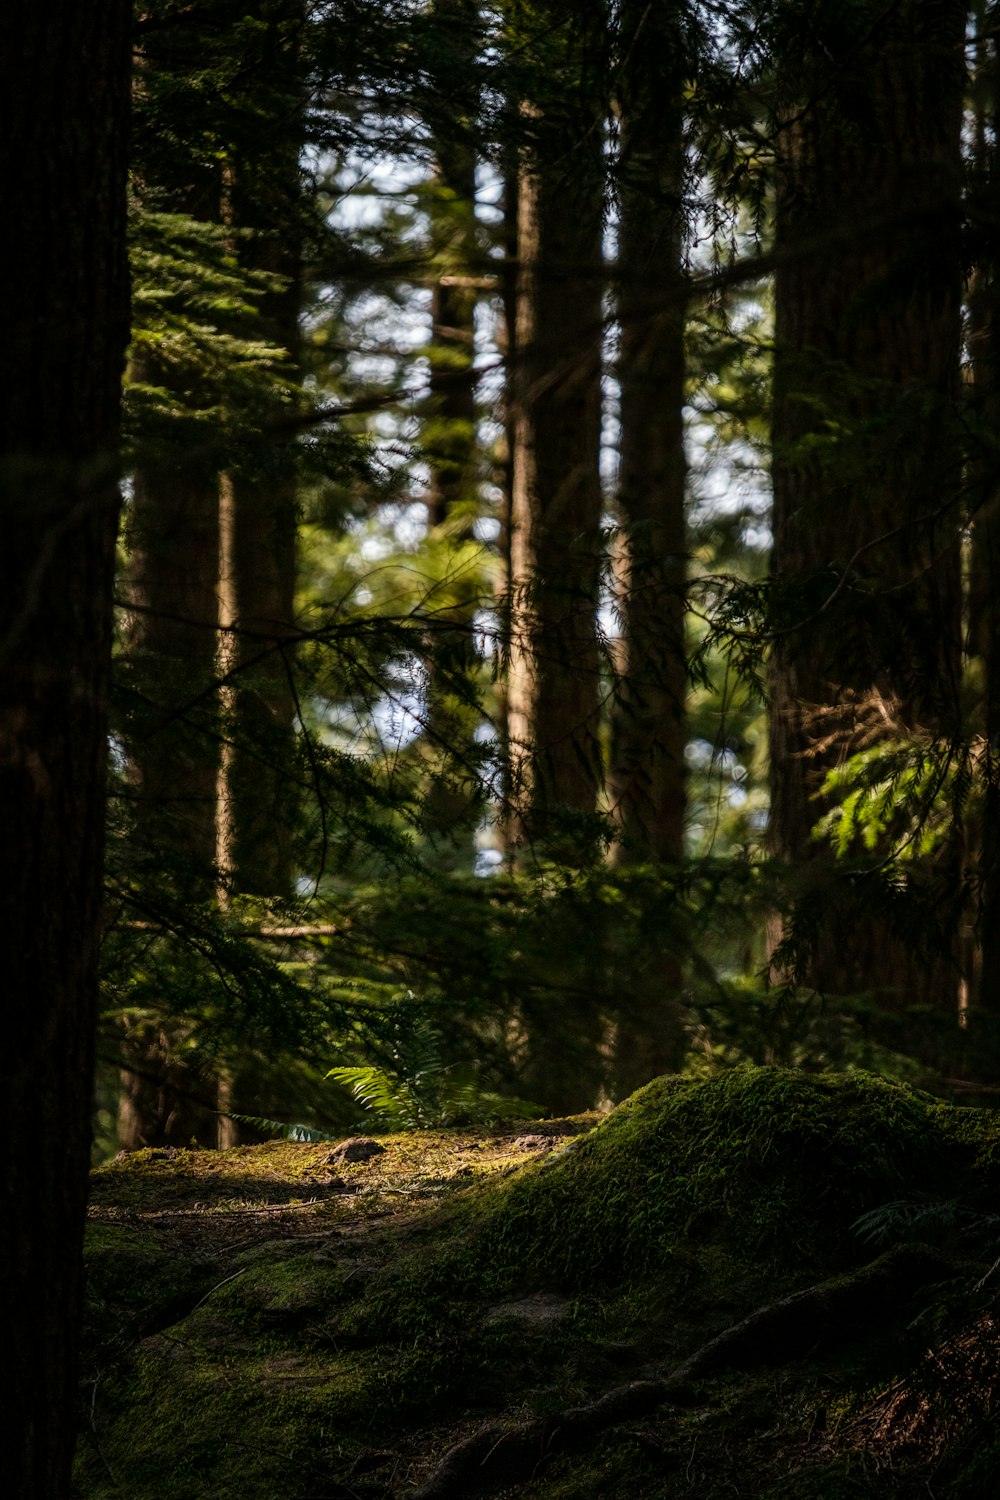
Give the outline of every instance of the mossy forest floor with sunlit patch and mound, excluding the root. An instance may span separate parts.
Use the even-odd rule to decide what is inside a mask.
[[[555,1149],[516,1144],[540,1132]],[[999,1140],[997,1116],[879,1078],[739,1070],[658,1080],[601,1122],[381,1137],[357,1164],[138,1152],[94,1174],[78,1492],[403,1497],[486,1420],[556,1419],[850,1274],[864,1212],[996,1204]],[[915,1311],[705,1380],[507,1492],[927,1494],[919,1452],[837,1438],[918,1368]],[[972,1497],[984,1444],[958,1424],[934,1492]]]

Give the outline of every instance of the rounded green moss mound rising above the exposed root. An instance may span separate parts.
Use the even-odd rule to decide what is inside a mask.
[[[856,1257],[864,1212],[982,1188],[993,1124],[864,1072],[657,1078],[495,1194],[475,1262],[496,1286],[544,1268],[567,1288],[645,1280],[708,1245],[768,1274],[829,1266]]]

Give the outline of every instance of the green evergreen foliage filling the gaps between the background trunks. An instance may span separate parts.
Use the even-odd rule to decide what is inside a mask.
[[[580,132],[600,134],[604,114],[606,180],[597,186],[612,238],[615,194],[646,182],[642,142],[630,144],[621,117],[640,84],[627,75],[642,16],[595,6],[588,18],[586,57],[567,51],[579,14],[559,4],[349,0],[246,12],[213,0],[192,12],[163,0],[136,22],[129,462],[159,474],[183,464],[210,483],[243,477],[264,490],[291,476],[298,598],[291,628],[255,627],[241,640],[231,680],[216,669],[189,688],[183,662],[150,675],[123,632],[108,1068],[114,1017],[148,1026],[174,1018],[177,1046],[202,1071],[225,1059],[243,1070],[247,1089],[270,1078],[271,1102],[237,1089],[240,1114],[295,1118],[303,1089],[315,1110],[337,1048],[355,1083],[364,1070],[373,1086],[381,1078],[391,1113],[390,1038],[396,1026],[411,1035],[399,996],[412,990],[442,1077],[474,1068],[484,1100],[523,1090],[544,1104],[532,1035],[553,1024],[577,1071],[579,1102],[594,1102],[619,1092],[601,1038],[628,1026],[648,990],[660,1004],[657,986],[666,986],[696,1071],[741,1058],[864,1062],[952,1080],[942,1088],[990,1086],[993,981],[978,978],[978,964],[996,864],[996,770],[982,711],[970,706],[958,724],[931,712],[954,692],[931,680],[937,624],[919,600],[907,604],[892,566],[868,568],[862,538],[846,536],[843,550],[816,566],[765,572],[772,447],[775,462],[805,465],[817,484],[861,492],[885,488],[900,454],[940,417],[916,386],[894,390],[882,374],[813,351],[796,392],[808,422],[790,446],[771,441],[775,160],[795,100],[826,99],[831,80],[823,129],[880,148],[880,116],[852,72],[861,69],[861,80],[874,66],[868,48],[883,22],[870,4],[841,14],[814,3],[685,3],[670,12],[684,105],[672,200],[678,284],[664,297],[685,309],[687,831],[678,858],[609,868],[615,806],[601,792],[589,810],[555,807],[547,842],[511,844],[511,620],[519,627],[505,597],[513,430],[504,375],[516,388],[531,354],[516,348],[510,321],[517,160],[544,154],[550,130],[568,132],[567,141],[576,132],[577,144]],[[979,26],[975,106],[988,114],[991,33],[988,20]],[[916,45],[939,45],[937,33],[921,32]],[[525,99],[532,110],[520,108]],[[987,120],[967,164],[967,264],[982,267],[991,255],[981,207],[991,129]],[[294,202],[276,186],[282,160],[298,162]],[[472,178],[456,188],[459,162]],[[253,192],[264,216],[240,222],[234,206]],[[865,225],[837,232],[847,228],[862,244],[876,234]],[[922,232],[918,224],[918,250]],[[301,246],[294,276],[271,268],[282,238]],[[609,285],[613,254],[609,238],[598,273]],[[427,332],[442,284],[465,297],[465,345],[442,340],[438,324]],[[901,297],[898,278],[894,288]],[[876,292],[865,296],[852,310],[859,326],[877,310]],[[268,310],[282,297],[298,298],[294,350],[276,340]],[[652,306],[643,318],[661,312]],[[624,345],[610,303],[604,336],[613,372]],[[574,362],[567,358],[550,372],[556,384]],[[450,392],[462,382],[471,382],[471,405],[456,416]],[[963,435],[948,430],[949,452],[958,442],[967,453],[942,474],[952,486],[942,525],[955,546],[973,516],[984,528],[993,472],[985,399],[981,382]],[[432,518],[426,507],[439,483],[448,507]],[[604,484],[610,508],[610,468]],[[900,554],[910,555],[901,528]],[[606,582],[616,536],[604,516],[585,542]],[[540,597],[538,580],[528,580],[525,608]],[[615,714],[642,708],[624,676],[622,616],[598,604],[600,724],[577,766],[591,780],[610,764]],[[543,657],[559,656],[553,640],[540,642]],[[783,642],[810,650],[810,640],[835,642],[831,718],[811,730],[808,754],[819,760],[808,838],[795,858],[787,849],[775,858],[765,704]],[[966,654],[969,704],[988,672],[984,640],[979,630]],[[853,740],[841,744],[844,688],[873,658],[930,718],[900,712],[888,732],[877,705],[859,704]],[[231,687],[240,704],[264,699],[274,681],[285,684],[286,734],[226,699]],[[148,843],[135,747],[162,732],[165,712],[208,764],[235,744],[261,778],[277,777],[294,898],[261,890],[217,909],[225,872],[183,842]],[[865,980],[870,920],[936,974],[936,1004],[913,992],[919,1020],[906,996],[889,1002],[874,969]],[[855,921],[861,946],[852,950]],[[831,926],[846,934],[844,982],[817,990],[816,954]],[[957,1035],[960,981],[963,1030],[972,1024],[976,1044]],[[274,1052],[286,1062],[276,1070],[271,1056],[265,1068]],[[282,1066],[288,1098],[274,1102]],[[403,1080],[421,1071],[400,1068]],[[111,1094],[108,1071],[106,1108]],[[346,1098],[331,1089],[330,1100],[343,1118]]]

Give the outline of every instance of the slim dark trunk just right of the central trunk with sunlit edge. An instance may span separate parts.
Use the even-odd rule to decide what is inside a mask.
[[[619,6],[621,440],[616,588],[619,688],[612,714],[612,861],[684,858],[685,458],[684,60],[675,6]],[[622,1094],[679,1065],[678,952],[654,951],[630,978],[618,1023]]]

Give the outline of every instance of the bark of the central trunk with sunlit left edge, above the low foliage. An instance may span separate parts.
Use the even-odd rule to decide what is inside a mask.
[[[601,780],[603,120],[594,6],[558,39],[562,96],[525,105],[517,204],[508,734],[520,837],[579,855]],[[535,8],[535,12],[538,8]],[[535,21],[538,20],[535,14]],[[541,88],[540,88],[541,94]],[[583,822],[586,830],[586,822]],[[586,836],[583,836],[586,837]]]

